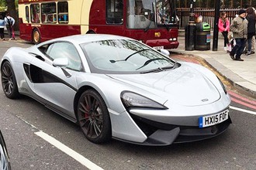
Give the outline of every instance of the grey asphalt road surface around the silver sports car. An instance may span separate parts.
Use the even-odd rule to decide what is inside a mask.
[[[0,42],[0,57],[21,41]],[[237,100],[241,100],[238,98]],[[255,101],[248,99],[253,105]],[[255,169],[256,115],[243,103],[231,103],[233,124],[217,138],[167,147],[130,145],[112,140],[89,142],[78,125],[55,114],[29,97],[9,100],[0,90],[0,129],[5,137],[12,169],[87,169],[74,157],[38,135],[43,131],[103,169]],[[243,110],[239,110],[243,109]],[[59,144],[60,145],[60,144]]]

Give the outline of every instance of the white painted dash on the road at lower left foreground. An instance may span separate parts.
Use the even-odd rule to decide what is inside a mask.
[[[68,148],[66,145],[62,144],[60,141],[57,141],[55,138],[51,137],[49,134],[46,134],[43,131],[37,131],[35,132],[35,134],[40,138],[43,138],[45,141],[48,141],[51,145],[54,145],[56,148],[60,149],[65,154],[71,156],[76,161],[80,162],[81,165],[85,165],[86,168],[103,170],[103,168],[99,167],[98,165],[95,165],[95,163],[83,157],[78,152],[72,150],[71,148]]]

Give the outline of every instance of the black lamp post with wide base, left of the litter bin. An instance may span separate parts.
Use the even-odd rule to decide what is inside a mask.
[[[195,14],[193,3],[195,0],[190,0],[189,23],[185,27],[185,50],[192,51],[195,49]]]

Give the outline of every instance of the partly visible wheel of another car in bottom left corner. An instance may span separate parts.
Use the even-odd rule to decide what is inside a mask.
[[[9,161],[9,155],[5,145],[5,140],[0,131],[0,170],[11,170],[11,163]]]

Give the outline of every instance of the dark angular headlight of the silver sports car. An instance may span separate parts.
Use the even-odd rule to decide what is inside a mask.
[[[156,101],[151,100],[147,97],[141,96],[140,94],[133,93],[130,91],[124,91],[121,93],[121,100],[125,107],[146,107],[155,109],[168,109],[162,104],[158,104]]]

